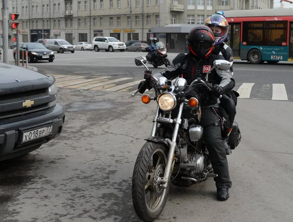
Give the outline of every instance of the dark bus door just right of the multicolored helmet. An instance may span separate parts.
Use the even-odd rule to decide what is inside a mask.
[[[236,59],[235,57],[240,57],[240,30],[241,23],[229,24],[229,40],[227,45],[232,49],[234,59]]]

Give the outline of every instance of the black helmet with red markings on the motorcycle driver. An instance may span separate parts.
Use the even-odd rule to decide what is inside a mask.
[[[196,60],[207,59],[215,44],[215,37],[206,25],[195,25],[187,37],[188,48],[191,56]]]

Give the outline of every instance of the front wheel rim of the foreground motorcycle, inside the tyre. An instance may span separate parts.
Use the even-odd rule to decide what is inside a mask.
[[[159,178],[164,177],[167,157],[162,149],[157,149],[147,166],[145,182],[146,207],[150,212],[156,212],[164,202],[167,189],[160,186]]]

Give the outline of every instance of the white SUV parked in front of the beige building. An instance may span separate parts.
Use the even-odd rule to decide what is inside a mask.
[[[114,52],[115,50],[120,50],[124,52],[126,45],[124,42],[117,40],[114,37],[95,37],[92,41],[92,47],[96,52],[100,49],[104,49],[106,52]]]

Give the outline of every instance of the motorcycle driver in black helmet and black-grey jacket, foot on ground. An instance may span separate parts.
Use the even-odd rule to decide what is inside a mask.
[[[173,79],[183,77],[190,84],[200,77],[205,79],[206,73],[212,66],[216,56],[212,55],[215,38],[211,29],[206,25],[195,25],[188,34],[187,55],[181,53],[172,61],[172,65],[153,75],[158,80],[161,76]],[[221,59],[221,57],[219,58]],[[224,59],[224,58],[222,58]],[[211,92],[201,94],[201,125],[204,128],[203,139],[209,151],[209,159],[215,174],[217,187],[217,199],[225,201],[229,198],[231,187],[225,144],[221,136],[221,122],[217,110],[220,108],[218,97],[230,92],[235,86],[235,81],[230,71],[215,68],[209,74],[209,82],[215,83]],[[138,88],[144,84],[144,88],[150,88],[149,80],[140,82]],[[143,88],[143,87],[142,87]],[[144,89],[145,90],[145,89]],[[143,90],[140,90],[140,93]]]

